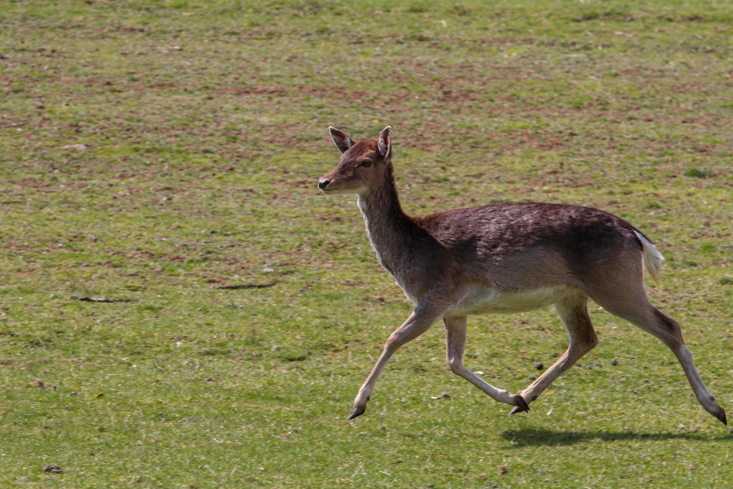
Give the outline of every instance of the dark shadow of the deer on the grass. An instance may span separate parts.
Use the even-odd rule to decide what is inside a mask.
[[[698,440],[698,441],[733,441],[733,433],[724,435],[708,435],[705,433],[640,433],[638,431],[555,431],[523,428],[506,430],[501,433],[504,440],[512,442],[512,448],[523,446],[563,446],[583,443],[584,441],[619,441],[619,440]]]

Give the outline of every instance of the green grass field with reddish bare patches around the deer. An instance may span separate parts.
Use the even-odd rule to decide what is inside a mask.
[[[1,3],[1,487],[733,484],[674,356],[595,304],[531,413],[452,375],[435,325],[348,422],[410,306],[316,191],[328,125],[389,124],[413,215],[626,218],[731,416],[730,2]],[[520,391],[566,346],[552,309],[471,317],[466,364]]]

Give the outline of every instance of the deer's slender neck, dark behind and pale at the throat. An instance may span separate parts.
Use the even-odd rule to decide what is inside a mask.
[[[375,188],[359,194],[358,206],[377,260],[395,275],[407,258],[405,245],[416,224],[399,205],[392,163],[388,163],[382,181]]]

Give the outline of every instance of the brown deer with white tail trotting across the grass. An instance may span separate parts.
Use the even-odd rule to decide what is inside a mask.
[[[408,216],[399,204],[392,165],[391,126],[376,141],[354,141],[329,126],[341,152],[318,181],[323,194],[356,194],[377,261],[394,276],[413,306],[388,337],[358,391],[348,419],[367,410],[375,383],[394,353],[443,320],[446,359],[497,402],[529,404],[598,344],[588,315],[591,299],[660,339],[682,365],[699,403],[727,424],[726,413],[700,378],[677,321],[649,303],[648,271],[660,287],[662,254],[643,232],[592,207],[541,202],[482,205]],[[519,394],[498,389],[463,364],[467,317],[554,306],[570,335],[567,350]]]

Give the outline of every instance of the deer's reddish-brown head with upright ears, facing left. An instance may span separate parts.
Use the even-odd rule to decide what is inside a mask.
[[[383,180],[392,158],[392,128],[384,128],[377,141],[356,142],[333,126],[328,130],[342,153],[341,160],[318,181],[318,188],[324,194],[363,194],[375,188]]]

